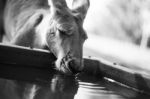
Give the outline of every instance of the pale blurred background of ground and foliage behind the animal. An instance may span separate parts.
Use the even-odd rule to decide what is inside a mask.
[[[149,72],[149,0],[90,0],[84,29],[84,56]]]

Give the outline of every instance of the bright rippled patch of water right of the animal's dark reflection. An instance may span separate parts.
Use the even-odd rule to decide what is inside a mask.
[[[78,83],[79,88],[74,99],[127,99],[121,94],[108,90],[104,79],[82,75],[79,76]]]

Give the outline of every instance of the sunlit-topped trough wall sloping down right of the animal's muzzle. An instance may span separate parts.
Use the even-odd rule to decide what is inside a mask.
[[[113,79],[120,84],[150,94],[150,74],[106,61],[104,59],[85,59],[85,72]]]

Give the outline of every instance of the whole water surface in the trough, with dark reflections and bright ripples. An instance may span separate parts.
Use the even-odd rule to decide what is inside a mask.
[[[0,66],[0,99],[149,99],[108,80],[81,73]]]

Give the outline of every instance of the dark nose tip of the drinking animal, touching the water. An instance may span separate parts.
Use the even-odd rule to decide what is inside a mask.
[[[79,72],[81,72],[81,62],[77,61],[77,60],[71,60],[69,61],[68,63],[68,68],[70,69],[70,71],[73,73],[73,74],[77,74]]]

